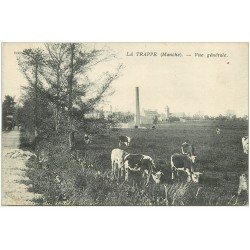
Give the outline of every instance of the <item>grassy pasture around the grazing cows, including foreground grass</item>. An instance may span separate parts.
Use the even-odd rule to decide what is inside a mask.
[[[221,128],[220,135],[216,134],[216,127]],[[85,167],[79,167],[66,148],[57,148],[58,143],[52,143],[51,146],[45,144],[44,148],[53,151],[50,167],[41,168],[30,163],[28,175],[34,187],[31,191],[45,194],[45,199],[40,203],[38,201],[39,204],[234,205],[239,176],[248,172],[248,156],[243,153],[241,144],[241,138],[247,134],[248,124],[243,121],[173,123],[159,125],[155,130],[112,129],[105,134],[94,135],[90,145],[84,145],[83,135],[77,134],[76,150],[85,159]],[[131,145],[126,148],[128,153],[151,156],[168,177],[171,154],[181,153],[183,142],[191,143],[197,155],[195,167],[204,173],[207,181],[199,184],[180,181],[172,183],[167,177],[165,186],[151,182],[149,187],[141,190],[133,190],[127,184],[117,185],[110,178],[110,154],[112,149],[118,147],[119,135],[132,137]],[[60,185],[53,184],[56,174],[64,180]],[[40,175],[46,178],[48,175],[53,176],[49,179],[49,187],[53,187],[53,192],[45,188],[48,180],[41,186],[37,179]],[[240,197],[236,205],[247,203],[248,196],[245,195]]]

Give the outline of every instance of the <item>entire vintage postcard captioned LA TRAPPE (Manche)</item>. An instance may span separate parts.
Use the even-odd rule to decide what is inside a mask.
[[[2,205],[248,205],[248,43],[3,43]]]

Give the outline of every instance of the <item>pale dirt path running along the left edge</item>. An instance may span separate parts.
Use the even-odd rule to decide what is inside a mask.
[[[35,205],[32,199],[38,195],[28,191],[21,182],[25,176],[25,162],[30,152],[19,148],[19,131],[4,132],[2,135],[2,205]]]

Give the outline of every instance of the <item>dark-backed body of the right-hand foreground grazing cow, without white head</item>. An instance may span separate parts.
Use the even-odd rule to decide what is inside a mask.
[[[171,155],[171,168],[172,168],[172,179],[178,176],[178,171],[185,171],[188,175],[187,181],[192,180],[192,173],[194,172],[193,161],[188,155],[175,153]]]

